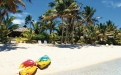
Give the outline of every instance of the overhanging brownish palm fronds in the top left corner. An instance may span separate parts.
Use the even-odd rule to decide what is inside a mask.
[[[28,1],[31,2],[31,0]],[[18,10],[19,5],[26,7],[25,3],[22,0],[0,0],[0,23],[3,17],[9,12],[21,12],[21,10]]]

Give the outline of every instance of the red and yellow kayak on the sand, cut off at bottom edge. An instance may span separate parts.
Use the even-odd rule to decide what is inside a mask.
[[[34,75],[37,71],[36,63],[33,60],[26,60],[19,66],[19,75]]]

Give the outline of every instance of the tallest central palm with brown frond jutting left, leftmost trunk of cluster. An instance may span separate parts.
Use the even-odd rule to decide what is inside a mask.
[[[50,20],[57,17],[61,18],[62,21],[62,38],[61,43],[63,42],[64,34],[64,19],[71,16],[73,11],[77,10],[77,3],[74,0],[55,0],[49,5],[53,7],[51,15],[44,15],[43,20]],[[71,12],[71,13],[70,13]],[[74,22],[74,21],[73,21]]]

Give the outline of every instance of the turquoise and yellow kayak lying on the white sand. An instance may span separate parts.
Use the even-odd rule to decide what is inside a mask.
[[[51,60],[47,55],[44,55],[40,59],[38,59],[36,63],[39,69],[45,69],[50,65]]]

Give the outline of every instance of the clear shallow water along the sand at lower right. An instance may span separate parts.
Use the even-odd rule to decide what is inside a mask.
[[[52,75],[121,75],[121,58]]]

